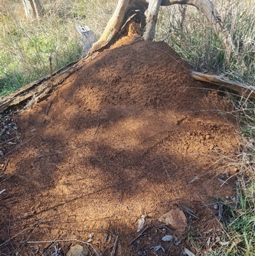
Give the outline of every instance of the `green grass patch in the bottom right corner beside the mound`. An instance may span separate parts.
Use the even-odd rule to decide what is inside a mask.
[[[244,181],[244,179],[243,179]],[[255,191],[254,181],[243,183],[237,190],[237,202],[221,200],[223,206],[224,236],[228,246],[217,248],[209,255],[255,255]]]

